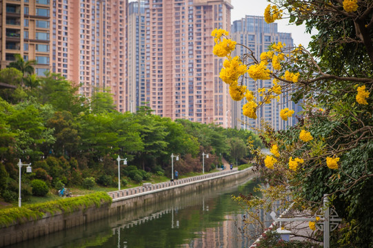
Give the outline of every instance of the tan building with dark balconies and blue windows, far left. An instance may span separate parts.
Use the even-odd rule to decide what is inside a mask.
[[[25,61],[37,61],[35,73],[43,76],[50,70],[52,4],[49,0],[3,0],[0,5],[1,69],[14,61],[14,54],[21,54]]]

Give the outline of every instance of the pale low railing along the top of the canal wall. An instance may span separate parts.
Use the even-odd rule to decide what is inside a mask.
[[[232,170],[227,169],[227,170],[224,170],[224,171],[221,171],[221,172],[214,172],[214,173],[203,174],[203,175],[199,175],[199,176],[181,178],[181,179],[174,180],[174,181],[168,181],[168,182],[163,182],[163,183],[155,183],[155,184],[149,184],[149,185],[145,184],[143,186],[133,187],[133,188],[130,188],[130,189],[121,189],[121,190],[117,190],[117,191],[114,191],[114,192],[108,192],[108,194],[111,198],[116,199],[116,198],[121,198],[121,197],[125,197],[125,196],[133,196],[134,194],[151,192],[153,190],[165,189],[165,188],[173,187],[173,186],[176,186],[176,185],[183,185],[185,183],[197,182],[199,180],[215,178],[215,177],[218,177],[218,176],[223,176],[223,175],[226,175],[226,174],[232,174],[232,173],[235,173],[235,172],[237,172],[237,169],[232,169]]]

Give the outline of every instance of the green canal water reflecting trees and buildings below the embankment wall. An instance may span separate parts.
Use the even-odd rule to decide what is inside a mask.
[[[245,229],[246,212],[232,195],[255,194],[256,185],[249,180],[205,189],[9,247],[250,247],[254,240],[247,237],[248,232],[261,230]]]

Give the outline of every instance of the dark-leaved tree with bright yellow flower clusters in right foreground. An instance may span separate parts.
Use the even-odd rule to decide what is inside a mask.
[[[260,107],[285,92],[303,105],[301,113],[288,108],[279,113],[284,121],[301,115],[296,126],[274,132],[264,125],[261,130],[272,155],[256,158],[270,185],[259,190],[270,202],[281,200],[281,207],[294,203],[312,215],[326,194],[343,218],[343,228],[332,233],[334,246],[373,247],[373,1],[276,0],[264,17],[268,23],[283,18],[304,23],[317,34],[308,48],[273,43],[256,54],[243,45],[245,54],[226,56],[221,79],[234,87],[232,98],[247,102],[245,116],[256,118]],[[244,76],[272,79],[273,85],[243,92]],[[245,201],[270,209],[258,198]]]

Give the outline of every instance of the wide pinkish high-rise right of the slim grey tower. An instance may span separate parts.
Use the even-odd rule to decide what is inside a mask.
[[[223,60],[212,54],[214,28],[230,30],[230,0],[147,0],[146,80],[154,114],[230,125]]]

